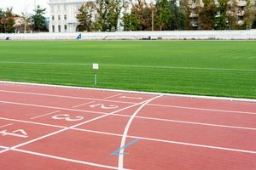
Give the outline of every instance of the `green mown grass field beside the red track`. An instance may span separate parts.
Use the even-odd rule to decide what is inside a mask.
[[[256,42],[0,42],[0,80],[256,99]]]

